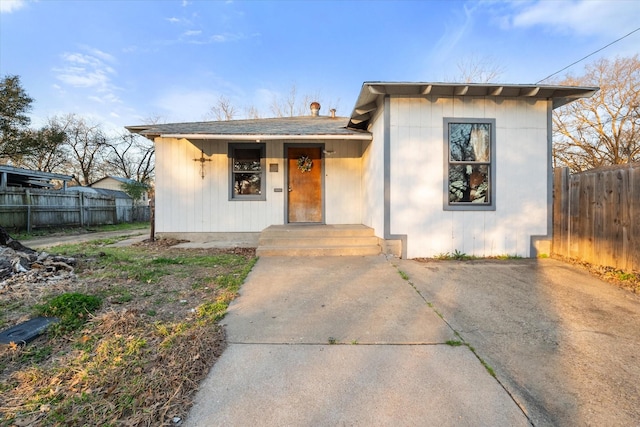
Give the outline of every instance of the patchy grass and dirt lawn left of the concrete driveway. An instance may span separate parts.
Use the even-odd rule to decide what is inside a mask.
[[[109,243],[56,247],[77,258],[75,277],[0,287],[2,329],[36,313],[63,317],[56,304],[71,298],[100,301],[93,312],[69,304],[76,329],[61,322],[25,346],[0,347],[0,425],[159,426],[186,416],[224,350],[218,322],[255,251]]]

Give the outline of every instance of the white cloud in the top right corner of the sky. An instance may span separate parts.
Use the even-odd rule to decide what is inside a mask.
[[[578,35],[622,36],[638,27],[640,2],[571,0],[514,2],[508,17],[513,27],[547,27],[549,31]]]

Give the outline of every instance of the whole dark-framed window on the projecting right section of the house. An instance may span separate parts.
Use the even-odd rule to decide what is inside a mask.
[[[445,119],[445,209],[495,207],[495,120]]]

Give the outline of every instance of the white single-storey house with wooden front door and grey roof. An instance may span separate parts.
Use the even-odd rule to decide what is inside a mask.
[[[313,103],[305,117],[128,129],[155,141],[159,237],[248,236],[268,255],[306,247],[296,231],[321,245],[365,229],[405,258],[531,257],[551,237],[551,112],[597,89],[365,82],[349,117]]]

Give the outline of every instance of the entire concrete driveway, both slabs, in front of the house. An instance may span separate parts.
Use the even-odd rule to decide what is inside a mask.
[[[640,420],[640,298],[554,260],[261,258],[225,323],[188,426]]]

